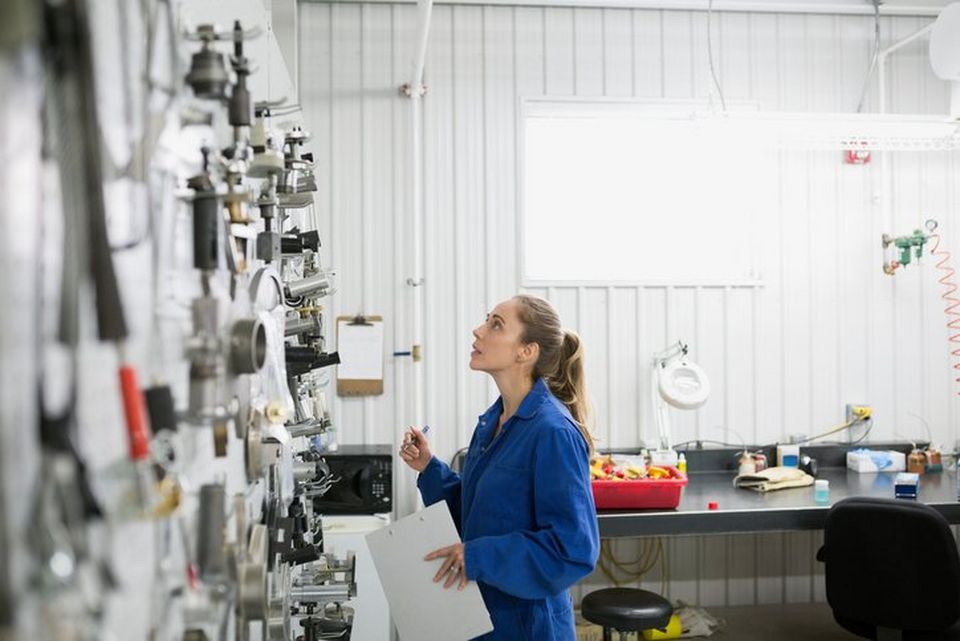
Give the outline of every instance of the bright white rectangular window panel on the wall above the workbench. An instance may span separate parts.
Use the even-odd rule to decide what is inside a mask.
[[[753,227],[771,182],[757,145],[689,103],[523,107],[526,284],[757,280]]]

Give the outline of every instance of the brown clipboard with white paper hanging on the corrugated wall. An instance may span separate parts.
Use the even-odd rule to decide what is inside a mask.
[[[338,396],[383,394],[383,317],[338,316]]]

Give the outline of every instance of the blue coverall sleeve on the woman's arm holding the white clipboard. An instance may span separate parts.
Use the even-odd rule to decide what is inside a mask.
[[[465,544],[467,578],[525,599],[569,588],[600,552],[586,443],[574,430],[550,430],[543,440],[533,469],[536,529]]]

